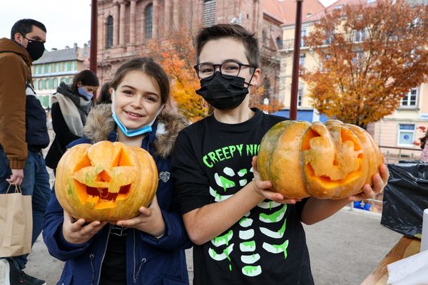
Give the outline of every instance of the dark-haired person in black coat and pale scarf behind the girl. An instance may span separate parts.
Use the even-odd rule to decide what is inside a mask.
[[[51,108],[55,138],[46,155],[46,166],[55,170],[66,145],[83,136],[83,126],[99,85],[95,73],[84,70],[74,76],[71,85],[61,82],[56,88]]]

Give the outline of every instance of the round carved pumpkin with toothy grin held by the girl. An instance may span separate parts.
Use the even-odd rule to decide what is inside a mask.
[[[81,144],[64,153],[56,168],[58,202],[72,217],[114,222],[136,217],[158,188],[153,157],[122,142]]]

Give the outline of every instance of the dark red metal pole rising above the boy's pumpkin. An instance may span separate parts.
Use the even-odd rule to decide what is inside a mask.
[[[296,0],[296,28],[295,44],[292,58],[292,78],[291,78],[291,98],[290,98],[290,119],[297,118],[297,93],[299,91],[299,59],[300,59],[300,39],[302,30],[302,4],[303,0]]]

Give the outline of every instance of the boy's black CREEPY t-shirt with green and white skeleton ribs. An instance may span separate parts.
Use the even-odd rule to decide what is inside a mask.
[[[211,115],[180,132],[173,177],[182,214],[228,199],[253,179],[251,161],[263,135],[285,120],[253,110],[244,123],[220,123]],[[262,202],[212,241],[195,245],[194,284],[313,284],[303,204]]]

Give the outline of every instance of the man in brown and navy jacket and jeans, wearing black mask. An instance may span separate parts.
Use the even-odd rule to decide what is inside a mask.
[[[45,42],[46,27],[33,19],[17,21],[11,39],[0,39],[0,194],[10,185],[21,185],[22,194],[31,195],[32,244],[41,232],[51,192],[41,153],[49,145],[46,113],[36,98],[31,76],[31,62],[41,58]],[[27,256],[0,259],[0,281],[46,284],[23,271]]]

